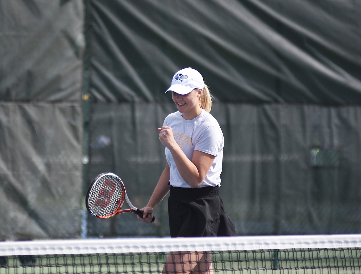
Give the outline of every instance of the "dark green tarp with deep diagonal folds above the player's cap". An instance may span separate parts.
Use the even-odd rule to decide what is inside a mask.
[[[165,101],[201,72],[222,102],[361,103],[361,1],[88,1],[90,93]]]

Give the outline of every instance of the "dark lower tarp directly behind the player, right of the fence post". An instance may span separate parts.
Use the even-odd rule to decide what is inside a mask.
[[[144,207],[165,167],[157,128],[172,111],[173,103],[96,104],[89,181],[112,171]],[[217,102],[211,114],[225,136],[220,191],[239,235],[359,233],[359,106]],[[315,149],[337,152],[337,161],[315,162]],[[155,224],[88,215],[88,235],[169,235],[167,206],[165,198]]]

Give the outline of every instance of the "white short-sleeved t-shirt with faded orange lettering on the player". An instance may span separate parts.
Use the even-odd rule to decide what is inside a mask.
[[[172,128],[175,141],[188,159],[192,160],[194,150],[216,156],[200,187],[221,186],[224,138],[218,121],[205,110],[192,120],[183,119],[182,114],[177,111],[165,118],[164,125]],[[165,156],[170,167],[170,185],[190,188],[179,174],[167,148]]]

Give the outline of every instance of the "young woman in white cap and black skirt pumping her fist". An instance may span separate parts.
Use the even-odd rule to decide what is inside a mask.
[[[165,146],[166,166],[144,211],[143,222],[150,222],[154,208],[170,192],[168,214],[171,237],[235,236],[235,227],[219,196],[221,185],[223,133],[209,114],[212,98],[202,75],[186,68],[176,72],[171,86],[178,108],[169,114],[159,131]],[[190,261],[187,268],[171,262]],[[197,257],[198,256],[198,257]],[[197,257],[197,258],[195,258]],[[201,258],[203,257],[203,258]],[[206,253],[171,254],[167,271],[212,273]],[[198,260],[198,263],[197,263]],[[179,268],[179,269],[178,269]],[[202,271],[200,270],[202,269]]]

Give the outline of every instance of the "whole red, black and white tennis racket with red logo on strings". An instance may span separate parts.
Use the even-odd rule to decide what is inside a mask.
[[[122,209],[124,200],[130,209]],[[88,189],[86,206],[94,217],[105,219],[124,212],[133,212],[143,218],[144,212],[134,207],[128,199],[124,184],[116,174],[101,173]],[[153,215],[152,215],[153,216]],[[155,217],[151,222],[154,222]]]

